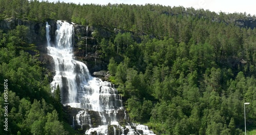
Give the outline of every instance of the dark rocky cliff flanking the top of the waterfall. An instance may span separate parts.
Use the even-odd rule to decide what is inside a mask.
[[[51,42],[55,42],[55,31],[56,31],[56,20],[48,20],[48,24],[51,26]],[[37,50],[40,52],[39,60],[45,66],[53,72],[53,59],[47,54],[47,43],[46,43],[46,31],[45,22],[36,22],[29,20],[21,20],[14,18],[7,18],[0,20],[0,29],[4,32],[15,29],[18,25],[24,25],[29,28],[28,42],[34,43]],[[96,40],[92,37],[92,33],[95,30],[94,27],[84,27],[74,24],[75,41],[74,41],[74,57],[80,60],[88,66],[91,74],[96,71],[106,70],[108,63],[99,58],[96,53],[97,46]],[[110,32],[104,32],[104,36],[110,36]],[[87,46],[86,46],[87,44]]]

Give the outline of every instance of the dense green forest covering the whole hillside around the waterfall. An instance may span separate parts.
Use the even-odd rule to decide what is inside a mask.
[[[255,16],[150,4],[0,0],[0,19],[10,17],[123,30],[109,38],[96,30],[97,52],[109,60],[110,81],[127,98],[130,119],[156,134],[243,134],[244,102],[250,102],[247,127],[256,128],[256,29],[236,24]],[[24,26],[0,30],[0,80],[9,82],[9,133],[71,133],[59,96],[50,95],[43,74],[47,69],[28,53],[38,51],[27,43],[26,31]],[[0,111],[2,125],[5,110]]]

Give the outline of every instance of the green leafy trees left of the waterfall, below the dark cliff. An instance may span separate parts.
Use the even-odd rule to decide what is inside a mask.
[[[0,79],[8,79],[8,133],[67,134],[59,121],[62,118],[58,118],[58,115],[62,117],[61,97],[57,98],[59,106],[55,107],[48,75],[43,74],[45,70],[37,57],[28,53],[38,52],[34,44],[27,42],[28,31],[28,27],[21,25],[6,33],[0,31]],[[4,87],[2,83],[0,86]],[[4,93],[0,93],[0,104],[3,105]],[[4,114],[3,106],[0,112]],[[5,118],[0,117],[3,126]],[[49,117],[54,120],[48,120]],[[1,128],[0,134],[6,134],[6,131]]]

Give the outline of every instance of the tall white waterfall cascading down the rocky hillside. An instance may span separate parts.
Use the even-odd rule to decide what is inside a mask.
[[[46,37],[48,54],[54,60],[55,76],[51,82],[52,93],[59,85],[62,95],[62,104],[70,105],[75,108],[82,108],[76,115],[76,124],[88,124],[93,126],[92,119],[88,113],[89,110],[98,111],[101,118],[101,125],[90,128],[86,134],[96,131],[98,134],[108,134],[108,124],[116,125],[120,129],[117,122],[118,119],[126,119],[126,114],[122,107],[122,99],[117,89],[111,87],[110,82],[101,81],[92,77],[86,64],[74,60],[73,58],[73,37],[74,27],[65,21],[57,21],[57,30],[55,32],[55,43],[51,43],[50,25],[46,23]],[[125,118],[117,118],[119,111],[122,111]],[[109,117],[109,121],[105,116]],[[74,127],[74,124],[72,125]],[[130,133],[135,130],[131,126],[127,126]],[[114,128],[116,130],[116,128]]]

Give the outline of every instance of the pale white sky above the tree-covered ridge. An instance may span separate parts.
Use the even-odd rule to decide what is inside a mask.
[[[46,0],[45,0],[46,1]],[[49,2],[57,2],[58,0],[48,0]],[[59,0],[60,2],[65,3],[80,3],[80,4],[101,4],[107,5],[111,4],[160,4],[165,6],[183,6],[185,8],[193,7],[195,9],[208,9],[210,11],[226,12],[226,13],[244,13],[247,15],[256,15],[256,1],[247,0],[247,1],[230,1],[230,0]]]

